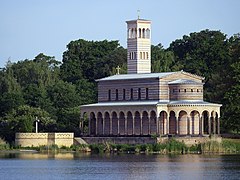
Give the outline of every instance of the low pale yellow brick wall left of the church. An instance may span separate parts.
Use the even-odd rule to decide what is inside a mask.
[[[15,144],[22,147],[73,145],[73,133],[16,133]]]

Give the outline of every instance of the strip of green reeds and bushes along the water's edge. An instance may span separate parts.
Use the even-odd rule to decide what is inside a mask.
[[[71,147],[57,145],[39,147],[15,147],[1,144],[0,150],[35,151],[35,152],[91,152],[91,153],[158,153],[158,154],[204,154],[225,153],[240,154],[240,139],[223,139],[221,143],[209,141],[202,144],[187,146],[183,142],[171,139],[159,144],[80,144]]]

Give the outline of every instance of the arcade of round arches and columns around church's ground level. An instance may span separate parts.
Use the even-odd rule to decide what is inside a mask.
[[[207,110],[112,111],[88,113],[89,135],[93,136],[149,136],[220,134],[217,112]]]

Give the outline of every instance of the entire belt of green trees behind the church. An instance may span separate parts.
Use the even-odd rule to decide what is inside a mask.
[[[185,70],[204,76],[205,99],[222,103],[222,130],[240,131],[240,35],[203,30],[184,35],[169,48],[151,47],[152,72]],[[38,54],[7,62],[0,70],[0,136],[15,132],[73,131],[79,135],[80,105],[97,101],[96,79],[127,72],[127,50],[118,41],[71,41],[62,62]]]

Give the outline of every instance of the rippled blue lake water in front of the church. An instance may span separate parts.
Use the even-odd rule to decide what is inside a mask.
[[[240,179],[240,155],[0,152],[0,179]]]

